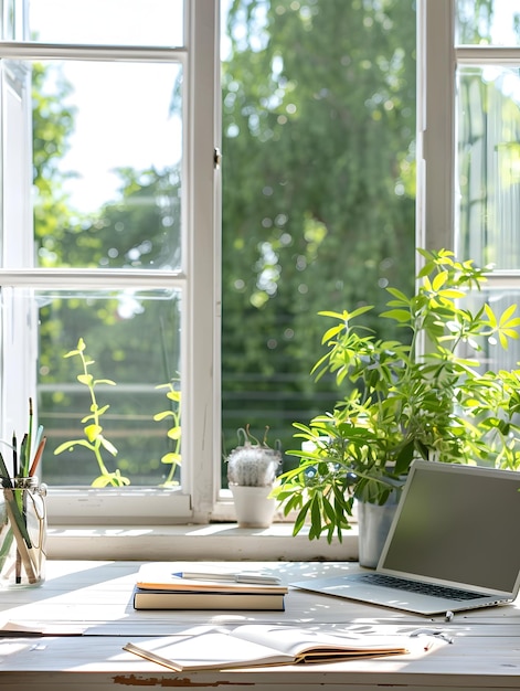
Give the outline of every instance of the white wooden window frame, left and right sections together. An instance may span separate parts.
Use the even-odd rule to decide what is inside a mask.
[[[206,522],[212,517],[224,517],[220,490],[220,176],[214,166],[214,149],[220,148],[220,33],[219,2],[216,0],[187,0],[187,50],[182,60],[188,75],[189,97],[185,104],[185,182],[190,190],[187,199],[184,243],[187,275],[160,276],[142,273],[140,280],[153,286],[184,286],[188,283],[182,336],[182,380],[190,383],[189,395],[183,403],[183,492],[181,506],[172,506],[171,495],[155,490],[120,492],[120,504],[114,500],[118,492],[110,492],[109,503],[103,493],[92,492],[92,503],[97,517],[103,510],[103,522],[157,523]],[[489,60],[517,60],[518,49],[482,49],[455,45],[455,0],[417,0],[417,195],[416,244],[435,249],[454,248],[455,208],[455,71],[457,62],[475,60],[482,55]],[[21,45],[0,42],[0,57],[49,57],[49,46]],[[99,56],[103,56],[103,50]],[[45,54],[43,54],[45,53]],[[71,49],[71,55],[74,49]],[[132,56],[135,54],[132,53]],[[2,85],[2,89],[3,89]],[[3,97],[3,91],[2,91]],[[4,123],[2,147],[6,148]],[[6,194],[2,177],[1,192]],[[210,200],[204,203],[201,200]],[[2,227],[6,219],[2,216]],[[191,240],[191,242],[190,242]],[[197,248],[204,247],[204,252]],[[0,270],[1,286],[28,288],[85,287],[87,276],[82,272],[43,272],[41,269],[12,267]],[[97,273],[100,276],[100,273]],[[108,275],[107,279],[114,280]],[[105,277],[103,277],[105,280]],[[118,273],[117,285],[134,281],[135,275]],[[49,283],[51,280],[51,284]],[[6,323],[2,323],[2,331]],[[187,357],[187,354],[189,357]],[[9,353],[2,352],[1,366]],[[3,379],[2,379],[3,381]],[[24,405],[31,393],[31,382],[24,384],[20,404]],[[6,392],[2,394],[2,418],[9,415]],[[9,418],[8,418],[9,419]],[[9,425],[11,421],[9,419]],[[51,489],[51,517],[60,522],[93,522],[93,515],[73,518],[73,510],[91,490],[62,492]],[[162,499],[160,498],[162,497]],[[177,499],[179,499],[177,497]],[[97,504],[96,504],[97,501]],[[161,501],[163,507],[160,506]],[[183,503],[182,503],[183,502]],[[139,509],[138,504],[141,503]],[[224,502],[225,506],[225,502]],[[100,507],[100,508],[99,508]],[[76,511],[77,513],[77,511]],[[147,540],[149,535],[147,535]],[[287,536],[294,541],[294,538]],[[226,543],[227,544],[227,543]],[[277,543],[279,549],[279,543]],[[263,555],[265,557],[265,554]]]

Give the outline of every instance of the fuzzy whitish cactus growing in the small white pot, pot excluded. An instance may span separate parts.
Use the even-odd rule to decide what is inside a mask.
[[[270,448],[267,445],[268,427],[265,429],[262,443],[250,434],[248,425],[245,429],[241,427],[237,430],[238,440],[243,435],[244,443],[234,448],[227,456],[227,481],[230,486],[269,487],[275,481],[282,464],[282,451],[278,446]],[[255,442],[254,444],[252,439]]]

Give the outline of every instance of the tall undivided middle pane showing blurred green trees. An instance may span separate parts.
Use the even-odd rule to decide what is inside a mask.
[[[414,8],[235,2],[222,22],[227,451],[247,423],[296,448],[293,422],[344,395],[310,375],[320,310],[374,305],[367,326],[395,336],[376,315],[415,273]]]

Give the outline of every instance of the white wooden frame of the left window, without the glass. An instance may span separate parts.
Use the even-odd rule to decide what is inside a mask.
[[[0,286],[6,294],[11,288],[32,291],[45,288],[88,289],[127,286],[137,288],[176,288],[183,291],[181,334],[181,381],[183,389],[182,488],[126,488],[107,493],[92,488],[50,488],[47,509],[53,523],[160,523],[204,522],[209,520],[220,489],[220,173],[215,166],[215,148],[220,148],[220,26],[219,2],[215,0],[184,0],[184,46],[120,47],[98,45],[39,44],[21,41],[0,41],[0,59],[8,60],[171,60],[182,64],[184,74],[183,113],[183,266],[180,272],[103,270],[103,269],[42,269],[32,263],[32,242],[25,245],[23,256],[8,252],[10,227],[15,223],[25,235],[32,234],[29,205],[17,210],[2,204],[1,232],[2,264]],[[21,9],[19,3],[18,9]],[[15,36],[19,38],[19,36]],[[6,103],[7,87],[1,85],[1,102]],[[25,85],[26,86],[26,85]],[[25,125],[30,118],[30,89],[20,108],[25,109]],[[12,190],[12,170],[4,169],[9,155],[6,118],[1,128],[1,200]],[[24,178],[30,189],[31,150],[25,128],[23,166],[19,180]],[[21,138],[23,135],[19,134]],[[14,157],[10,156],[12,168]],[[23,194],[30,199],[29,189]],[[23,206],[23,209],[22,209]],[[8,210],[9,214],[6,212]],[[29,233],[26,232],[29,228]],[[201,252],[200,248],[204,251]],[[2,310],[2,340],[0,368],[2,396],[0,416],[2,438],[10,438],[13,429],[26,425],[28,400],[35,401],[36,352],[31,338],[34,329],[26,329],[24,320],[13,320]],[[23,352],[23,358],[19,353]],[[14,357],[18,354],[18,357]],[[17,382],[13,390],[6,385],[9,373]],[[14,405],[15,404],[15,405]],[[38,412],[36,412],[38,413]]]

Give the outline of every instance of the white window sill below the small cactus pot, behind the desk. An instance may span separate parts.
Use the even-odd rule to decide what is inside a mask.
[[[205,525],[55,525],[47,532],[53,560],[130,561],[357,561],[358,528],[329,544],[309,540],[307,530],[293,535],[290,523],[238,528]]]

